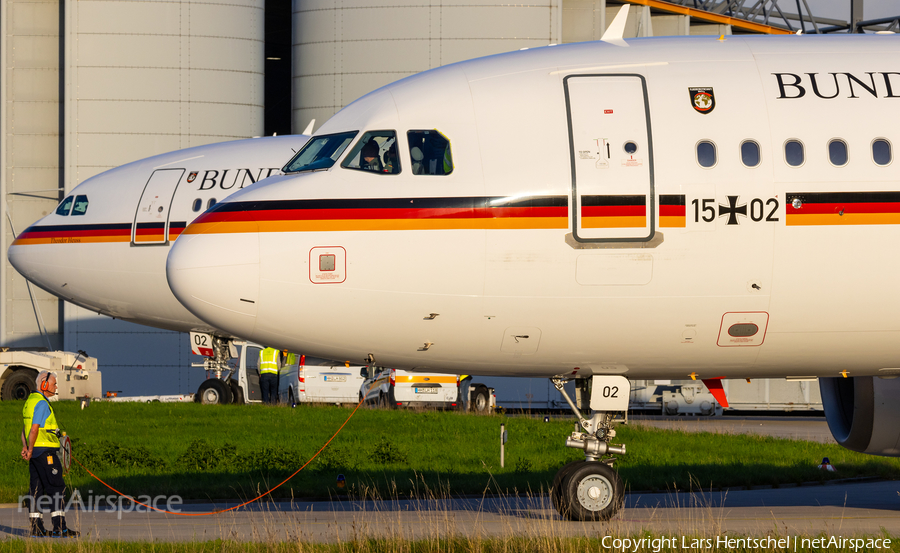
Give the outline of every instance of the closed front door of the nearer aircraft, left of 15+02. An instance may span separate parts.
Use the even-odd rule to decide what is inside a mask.
[[[647,86],[641,75],[563,81],[578,242],[646,242],[656,205]]]

